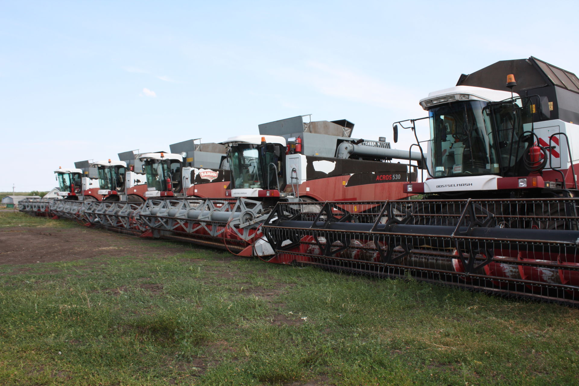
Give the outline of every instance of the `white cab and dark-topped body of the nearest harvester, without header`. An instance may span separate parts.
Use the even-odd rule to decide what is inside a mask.
[[[571,142],[579,129],[573,123],[579,79],[573,73],[534,57],[501,61],[462,75],[457,86],[428,94],[420,105],[430,121],[423,151],[429,177],[406,184],[406,193],[576,196],[579,152]],[[401,125],[416,133],[416,121],[397,122],[395,131]]]

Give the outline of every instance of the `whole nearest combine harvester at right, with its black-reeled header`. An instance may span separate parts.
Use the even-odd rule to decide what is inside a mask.
[[[420,105],[429,177],[404,192],[425,199],[278,203],[262,226],[269,261],[579,305],[577,77],[534,57],[500,61]],[[418,120],[394,132],[416,135]]]

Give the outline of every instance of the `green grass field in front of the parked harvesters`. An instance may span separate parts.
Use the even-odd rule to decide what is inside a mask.
[[[579,382],[578,310],[130,240],[166,252],[0,265],[0,384]]]

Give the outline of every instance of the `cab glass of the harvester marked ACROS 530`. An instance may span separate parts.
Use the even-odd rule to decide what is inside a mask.
[[[232,188],[279,189],[283,146],[236,144],[229,153]]]

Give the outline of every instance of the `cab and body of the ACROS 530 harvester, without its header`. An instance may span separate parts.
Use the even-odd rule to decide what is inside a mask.
[[[402,184],[416,181],[419,152],[351,138],[348,120],[304,122],[304,116],[259,125],[259,135],[239,135],[228,146],[229,197],[299,197],[302,201],[404,198]]]

